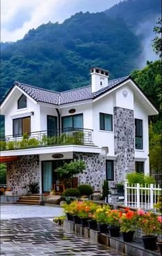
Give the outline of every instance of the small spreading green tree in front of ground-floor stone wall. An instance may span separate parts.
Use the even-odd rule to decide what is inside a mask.
[[[72,184],[72,178],[75,177],[78,173],[83,173],[86,168],[84,161],[76,162],[65,162],[62,167],[58,167],[55,171],[58,173],[59,178],[68,178],[69,186]]]

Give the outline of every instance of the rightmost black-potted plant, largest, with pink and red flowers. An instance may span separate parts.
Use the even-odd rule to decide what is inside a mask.
[[[161,232],[161,222],[159,216],[154,213],[145,213],[143,210],[137,210],[137,226],[142,229],[142,241],[144,248],[148,250],[157,249],[157,235]]]

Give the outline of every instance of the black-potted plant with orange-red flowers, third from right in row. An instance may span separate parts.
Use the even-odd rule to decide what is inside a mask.
[[[120,231],[120,218],[122,217],[122,211],[111,210],[108,214],[108,223],[109,223],[109,231],[111,233],[111,237],[119,237]]]

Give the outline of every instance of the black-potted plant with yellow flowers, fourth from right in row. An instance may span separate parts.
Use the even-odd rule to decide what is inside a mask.
[[[97,226],[101,233],[108,233],[108,214],[110,213],[110,206],[97,206],[93,218],[97,221]]]

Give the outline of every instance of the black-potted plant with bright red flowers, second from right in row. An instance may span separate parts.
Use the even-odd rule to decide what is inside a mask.
[[[120,231],[122,232],[124,242],[132,242],[136,230],[137,214],[128,208],[124,212],[119,220]]]

